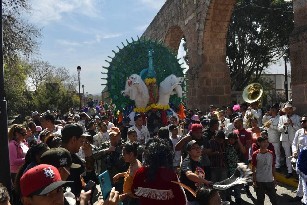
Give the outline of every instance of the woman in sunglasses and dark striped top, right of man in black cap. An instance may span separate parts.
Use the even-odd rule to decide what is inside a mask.
[[[85,168],[86,171],[82,173],[82,177],[84,179],[84,182],[87,183],[89,180],[92,180],[96,184],[98,184],[97,180],[97,172],[96,172],[96,166],[94,160],[94,152],[98,149],[95,145],[93,145],[93,138],[89,132],[84,132],[84,134],[88,134],[90,136],[84,136],[83,143],[80,147],[80,150],[78,153],[76,153],[82,160],[85,161]],[[95,186],[92,189],[91,192],[91,199],[90,202],[93,204],[93,194],[94,194]]]

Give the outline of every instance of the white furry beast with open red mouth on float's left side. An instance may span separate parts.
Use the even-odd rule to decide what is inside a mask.
[[[137,108],[146,108],[149,101],[149,93],[146,84],[138,74],[132,74],[127,78],[123,96],[129,96]]]

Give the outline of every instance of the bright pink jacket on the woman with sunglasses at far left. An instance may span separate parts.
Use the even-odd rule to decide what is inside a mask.
[[[23,142],[28,146],[25,140]],[[15,140],[11,140],[9,142],[9,152],[11,172],[17,173],[19,167],[25,163],[25,157],[23,157],[23,151],[20,144],[18,144]]]

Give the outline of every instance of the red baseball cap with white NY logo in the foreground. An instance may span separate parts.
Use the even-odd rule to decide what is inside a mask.
[[[40,164],[25,172],[20,179],[22,196],[45,195],[73,181],[62,181],[60,172],[52,165]]]

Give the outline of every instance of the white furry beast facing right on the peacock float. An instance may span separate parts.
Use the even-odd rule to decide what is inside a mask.
[[[171,74],[160,83],[159,87],[159,101],[157,105],[168,105],[169,96],[177,93],[178,97],[182,97],[181,82],[184,81],[184,77],[176,77]],[[175,90],[173,90],[175,89]]]

